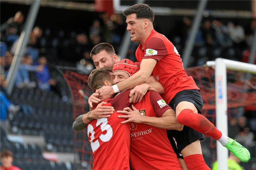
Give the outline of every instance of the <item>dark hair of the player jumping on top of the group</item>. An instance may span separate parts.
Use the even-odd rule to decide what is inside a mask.
[[[147,18],[151,22],[153,22],[155,18],[155,14],[148,4],[135,4],[123,11],[124,16],[131,14],[136,14],[137,18]]]

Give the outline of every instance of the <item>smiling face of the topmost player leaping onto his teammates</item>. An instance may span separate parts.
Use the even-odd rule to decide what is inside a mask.
[[[145,37],[143,21],[144,19],[137,18],[137,14],[126,16],[126,30],[131,34],[131,41],[142,41]]]

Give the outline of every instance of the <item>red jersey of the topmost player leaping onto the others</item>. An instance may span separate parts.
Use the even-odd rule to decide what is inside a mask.
[[[194,79],[185,72],[179,52],[164,35],[153,29],[144,47],[145,49],[142,49],[142,44],[139,44],[135,53],[136,59],[139,62],[144,58],[158,61],[152,74],[164,86],[161,96],[167,103],[182,90],[200,90]]]

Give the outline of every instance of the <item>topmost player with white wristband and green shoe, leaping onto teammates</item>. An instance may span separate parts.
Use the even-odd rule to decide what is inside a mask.
[[[203,139],[203,134],[218,140],[241,161],[248,162],[249,151],[235,140],[222,134],[200,114],[203,105],[199,94],[200,89],[193,78],[187,76],[175,46],[164,35],[154,30],[152,9],[146,4],[136,4],[127,8],[123,14],[126,16],[131,41],[140,42],[135,54],[137,61],[141,62],[140,70],[112,87],[103,86],[99,89],[99,97],[108,98],[116,92],[132,89],[146,82],[153,74],[164,86],[163,99],[175,110],[178,122],[185,125],[181,133],[174,134],[170,138],[176,140],[177,148],[189,169],[209,169],[203,159],[199,141]],[[133,102],[136,100],[135,95]]]

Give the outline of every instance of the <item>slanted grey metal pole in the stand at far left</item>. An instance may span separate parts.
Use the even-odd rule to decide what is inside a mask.
[[[34,26],[36,16],[38,13],[38,9],[40,7],[41,0],[35,0],[34,3],[31,5],[28,13],[28,17],[26,19],[26,23],[24,26],[24,29],[22,30],[17,47],[15,49],[14,57],[11,63],[11,67],[9,69],[6,81],[7,81],[7,93],[10,95],[12,93],[12,89],[14,86],[14,82],[16,80],[17,71],[19,69],[20,61],[22,58],[22,55],[25,52],[31,30]]]

